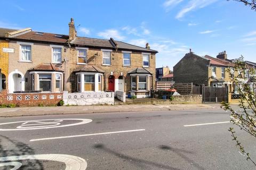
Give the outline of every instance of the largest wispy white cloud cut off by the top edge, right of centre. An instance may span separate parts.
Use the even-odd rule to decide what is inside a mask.
[[[195,11],[198,8],[204,8],[218,0],[190,0],[188,4],[183,7],[180,12],[175,16],[176,19],[181,19],[186,13],[190,11]]]

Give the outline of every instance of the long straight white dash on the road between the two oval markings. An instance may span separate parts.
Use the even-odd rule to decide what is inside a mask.
[[[53,137],[53,138],[31,139],[30,142],[41,141],[41,140],[52,140],[52,139],[88,137],[88,136],[101,135],[101,134],[114,134],[114,133],[138,132],[138,131],[145,131],[145,129],[137,129],[137,130],[129,130],[129,131],[116,131],[116,132],[103,132],[103,133],[92,133],[92,134],[79,134],[79,135],[70,135],[70,136],[65,136],[65,137]]]

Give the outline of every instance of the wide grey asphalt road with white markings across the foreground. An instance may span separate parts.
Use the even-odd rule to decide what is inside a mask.
[[[0,169],[255,169],[225,121],[221,109],[0,118]],[[236,130],[256,159],[255,140]]]

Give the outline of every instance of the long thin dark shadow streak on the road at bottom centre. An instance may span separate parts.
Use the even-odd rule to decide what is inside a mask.
[[[109,154],[113,154],[116,157],[119,157],[121,159],[129,160],[129,163],[135,164],[135,165],[137,165],[137,166],[139,166],[139,167],[141,167],[143,169],[147,169],[147,167],[145,165],[149,165],[151,167],[153,167],[153,166],[156,167],[156,169],[180,170],[179,168],[174,168],[172,166],[151,162],[149,160],[144,160],[144,159],[139,159],[139,158],[135,158],[135,157],[131,157],[131,156],[122,155],[122,154],[120,154],[120,153],[118,153],[118,152],[116,152],[114,150],[106,148],[103,144],[94,145],[94,148],[106,151]],[[130,161],[130,160],[132,160],[132,161]]]

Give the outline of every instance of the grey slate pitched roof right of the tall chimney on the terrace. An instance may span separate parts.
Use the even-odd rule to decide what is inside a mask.
[[[105,47],[115,49],[116,47],[124,50],[135,50],[140,52],[158,53],[156,50],[147,49],[131,44],[124,43],[122,41],[115,41],[113,38],[108,39],[97,39],[88,37],[76,37],[71,41],[71,44],[79,46],[90,46],[90,47]]]

